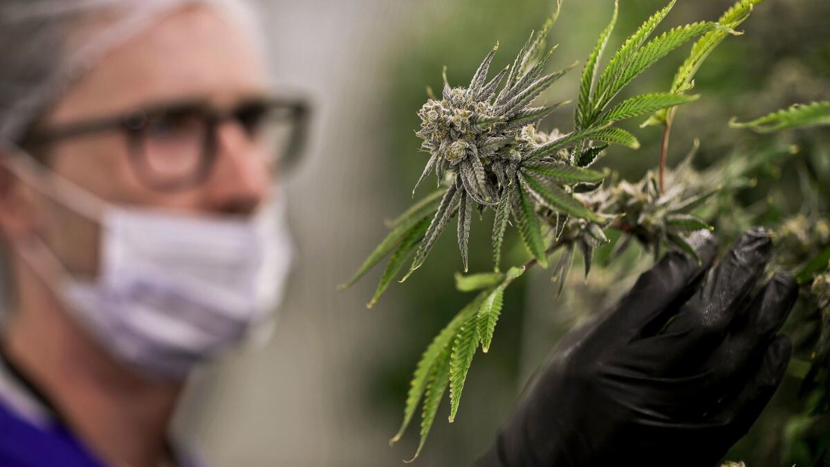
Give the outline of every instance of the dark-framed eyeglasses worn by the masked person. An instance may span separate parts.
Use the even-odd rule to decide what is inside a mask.
[[[217,130],[233,121],[267,167],[287,170],[305,146],[309,107],[300,99],[257,98],[230,111],[201,101],[152,106],[128,115],[85,120],[60,128],[33,128],[22,146],[37,150],[62,140],[120,130],[127,136],[136,175],[152,189],[175,191],[200,184],[217,158]]]

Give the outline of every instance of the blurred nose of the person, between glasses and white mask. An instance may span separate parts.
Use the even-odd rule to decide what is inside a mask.
[[[218,214],[250,214],[269,196],[266,158],[235,121],[216,129],[216,160],[205,186],[207,209]]]

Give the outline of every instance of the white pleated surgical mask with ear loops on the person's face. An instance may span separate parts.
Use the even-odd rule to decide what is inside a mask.
[[[7,165],[18,177],[100,224],[95,278],[66,272],[43,243],[40,254],[21,253],[33,268],[48,258],[51,270],[61,271],[46,283],[120,361],[181,379],[273,319],[293,251],[284,196],[246,219],[134,209],[107,204],[54,174],[44,184],[45,168],[25,154],[14,158]],[[41,176],[32,177],[36,166]]]

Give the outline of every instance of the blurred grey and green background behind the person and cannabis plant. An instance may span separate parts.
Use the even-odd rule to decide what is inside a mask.
[[[680,0],[662,27],[716,19],[732,2]],[[665,3],[623,0],[609,50]],[[496,41],[500,49],[491,69],[505,66],[553,5],[553,0],[262,0],[278,80],[315,102],[313,140],[288,182],[299,257],[276,332],[203,371],[178,417],[178,431],[195,439],[212,465],[401,465],[413,455],[417,421],[392,448],[388,439],[400,424],[418,357],[469,299],[452,283],[461,268],[457,245],[447,238],[454,236],[445,235],[424,267],[405,285],[393,283],[373,309],[365,303],[380,271],[347,292],[336,292],[335,286],[383,238],[383,219],[412,203],[411,187],[427,160],[414,134],[425,86],[441,89],[444,65],[453,85],[466,85]],[[584,61],[612,9],[611,0],[564,0],[549,37],[549,43],[560,44],[550,67]],[[740,29],[745,34],[728,37],[697,74],[702,98],[678,112],[670,164],[686,155],[694,138],[701,139],[701,165],[735,147],[766,144],[730,129],[732,116],[749,120],[794,102],[830,99],[830,2],[767,0]],[[629,95],[666,90],[688,47],[638,78]],[[573,98],[579,70],[544,99]],[[569,131],[572,121],[573,106],[566,106],[543,128]],[[642,148],[614,147],[600,162],[629,179],[642,177],[659,154],[660,130],[639,130],[636,123],[631,130]],[[798,157],[830,173],[827,130],[784,138],[803,147]],[[753,195],[763,198],[764,189],[759,185]],[[471,251],[488,253],[471,254],[471,271],[491,268],[489,226],[488,218],[473,223]],[[510,234],[515,232],[505,239],[504,263],[524,263],[525,253]],[[439,411],[415,465],[467,465],[486,450],[558,337],[590,307],[613,300],[642,267],[647,262],[598,268],[588,284],[574,273],[574,287],[558,300],[543,270],[508,289],[491,351],[476,356],[456,421],[447,423],[447,407]],[[786,428],[783,415],[771,410],[764,417],[759,425],[769,428],[753,439],[770,441],[743,443],[730,458],[750,467],[784,465],[782,448],[770,435]]]

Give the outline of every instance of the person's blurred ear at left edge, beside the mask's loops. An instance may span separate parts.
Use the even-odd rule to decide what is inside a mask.
[[[4,163],[7,157],[0,151],[0,231],[11,242],[32,234],[37,208],[32,189]]]

